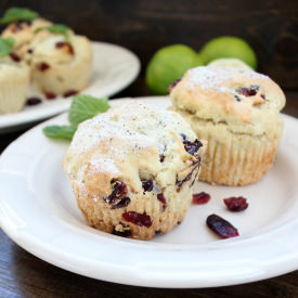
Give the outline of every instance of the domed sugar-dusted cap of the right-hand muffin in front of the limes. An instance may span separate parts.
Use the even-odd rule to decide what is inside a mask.
[[[285,105],[281,88],[268,76],[238,67],[199,66],[186,72],[171,90],[176,108],[202,120],[262,133]],[[257,131],[256,131],[257,130]]]

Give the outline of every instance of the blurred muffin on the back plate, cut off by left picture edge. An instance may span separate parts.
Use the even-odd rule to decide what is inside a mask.
[[[0,57],[0,114],[20,112],[29,89],[29,67],[11,53]]]

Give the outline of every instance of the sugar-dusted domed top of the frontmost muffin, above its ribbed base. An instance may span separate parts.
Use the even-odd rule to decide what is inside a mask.
[[[112,179],[140,192],[141,181],[154,178],[163,189],[192,171],[200,146],[177,113],[129,101],[80,124],[63,167],[94,197],[111,193]]]

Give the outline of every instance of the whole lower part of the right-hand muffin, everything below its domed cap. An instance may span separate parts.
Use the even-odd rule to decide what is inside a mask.
[[[265,176],[276,155],[283,120],[278,117],[270,135],[231,131],[226,124],[213,124],[176,109],[189,121],[197,138],[208,141],[202,156],[198,180],[231,186],[251,184]]]

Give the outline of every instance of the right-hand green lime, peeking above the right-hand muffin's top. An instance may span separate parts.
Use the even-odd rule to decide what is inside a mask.
[[[243,39],[222,36],[211,39],[198,53],[205,64],[220,57],[236,57],[254,69],[257,68],[257,56],[250,46]]]

